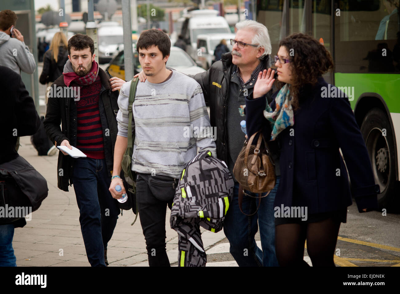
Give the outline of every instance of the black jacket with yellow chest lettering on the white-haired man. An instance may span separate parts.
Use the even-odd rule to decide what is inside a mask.
[[[266,58],[269,58],[267,56]],[[269,62],[266,62],[268,68]],[[228,136],[227,136],[227,111],[228,99],[230,96],[230,76],[232,75],[232,53],[222,54],[222,60],[212,64],[206,71],[196,75],[189,75],[198,82],[203,90],[204,100],[210,105],[210,122],[211,126],[216,127],[216,148],[217,157],[224,162],[229,160]],[[271,92],[271,91],[270,91]],[[249,95],[252,93],[252,88],[249,90]],[[267,94],[267,99],[270,101],[271,94]],[[238,138],[238,144],[243,144],[243,138]],[[278,152],[278,145],[273,142],[270,145],[271,152]]]

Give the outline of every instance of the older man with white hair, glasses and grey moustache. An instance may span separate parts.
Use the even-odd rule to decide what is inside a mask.
[[[228,164],[232,174],[244,142],[240,121],[245,118],[241,115],[241,106],[245,104],[245,97],[253,92],[258,73],[272,65],[272,48],[267,28],[254,20],[238,22],[236,28],[235,39],[231,40],[232,52],[223,54],[222,60],[212,64],[207,72],[192,76],[202,87],[204,99],[210,104],[211,125],[217,127],[217,156]],[[272,90],[268,94],[270,102]],[[246,216],[240,212],[239,184],[235,180],[233,202],[224,220],[230,253],[239,266],[278,266],[275,255],[274,199],[280,169],[277,142],[270,142],[269,146],[276,164],[275,188],[261,200],[255,214]],[[256,196],[248,191],[246,194]],[[244,213],[252,214],[257,209],[258,200],[246,194],[242,209]],[[258,226],[262,250],[254,239]]]

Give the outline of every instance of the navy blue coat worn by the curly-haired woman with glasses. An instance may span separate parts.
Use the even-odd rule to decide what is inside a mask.
[[[281,148],[281,179],[274,205],[307,206],[309,214],[330,212],[351,205],[353,195],[359,212],[377,209],[379,186],[375,185],[350,102],[345,97],[322,98],[324,86],[328,84],[320,77],[315,86],[301,90],[294,126],[283,130],[276,139]],[[272,109],[277,94],[272,96]],[[269,140],[271,125],[262,113],[266,98],[252,98],[246,99],[247,134],[251,136],[263,128],[264,137]],[[350,174],[352,193],[339,148]]]

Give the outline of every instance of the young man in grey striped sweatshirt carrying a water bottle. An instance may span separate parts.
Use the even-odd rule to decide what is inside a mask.
[[[184,165],[200,152],[216,156],[215,132],[210,126],[200,85],[188,76],[166,69],[171,42],[160,30],[142,32],[137,43],[139,61],[147,80],[139,83],[132,107],[135,141],[132,170],[136,172],[136,198],[149,266],[170,266],[166,254],[165,217]],[[131,82],[118,97],[118,135],[110,192],[120,198],[125,192],[119,178],[127,146],[128,99]],[[133,122],[132,122],[133,126]],[[122,192],[116,192],[120,185]]]

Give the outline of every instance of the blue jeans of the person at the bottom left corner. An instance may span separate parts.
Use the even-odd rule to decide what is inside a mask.
[[[14,225],[0,225],[0,266],[17,266],[12,237],[14,237]]]

